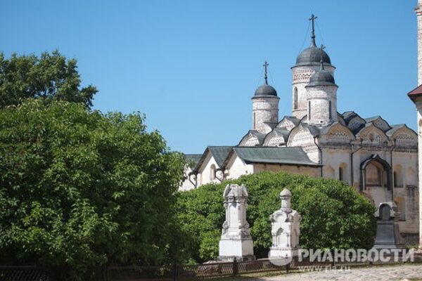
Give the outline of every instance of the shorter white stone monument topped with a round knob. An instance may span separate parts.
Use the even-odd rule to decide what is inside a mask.
[[[269,217],[271,221],[272,247],[269,248],[268,257],[288,258],[298,255],[300,235],[300,214],[291,209],[290,190],[284,188],[280,192],[281,209]]]

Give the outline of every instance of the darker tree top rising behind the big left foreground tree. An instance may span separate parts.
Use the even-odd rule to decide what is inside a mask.
[[[96,87],[80,87],[77,61],[58,51],[5,58],[0,53],[0,107],[18,105],[26,98],[65,100],[91,106]]]

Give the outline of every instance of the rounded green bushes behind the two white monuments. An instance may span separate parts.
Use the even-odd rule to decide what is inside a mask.
[[[189,235],[189,251],[196,261],[215,260],[224,222],[222,194],[228,183],[248,188],[248,222],[255,255],[267,257],[271,247],[269,216],[280,208],[279,193],[288,188],[292,206],[302,215],[300,246],[312,249],[366,248],[373,245],[375,211],[369,200],[343,181],[287,173],[262,172],[234,181],[203,185],[181,192],[178,218]]]

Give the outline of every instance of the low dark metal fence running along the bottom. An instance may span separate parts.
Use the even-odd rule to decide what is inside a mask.
[[[416,262],[422,262],[418,256]],[[279,264],[279,265],[278,265]],[[203,280],[210,277],[229,277],[247,273],[264,273],[269,271],[280,271],[289,273],[290,270],[301,270],[301,268],[322,267],[332,268],[341,266],[363,266],[370,262],[309,262],[291,261],[282,265],[280,261],[272,259],[259,259],[257,261],[231,261],[212,262],[193,265],[174,266],[108,266],[92,268],[89,271],[87,281],[153,281],[153,280]],[[0,266],[0,281],[60,281],[54,277],[54,268],[40,268],[37,266]]]

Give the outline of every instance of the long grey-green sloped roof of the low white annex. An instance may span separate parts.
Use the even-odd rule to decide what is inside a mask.
[[[233,148],[232,153],[236,153],[246,163],[272,163],[272,164],[294,164],[306,166],[320,166],[312,162],[307,157],[302,148],[276,148],[276,147],[241,147]],[[229,157],[227,157],[229,159]],[[227,160],[228,160],[227,159]],[[226,160],[226,161],[227,161]],[[225,162],[224,165],[227,163]]]

